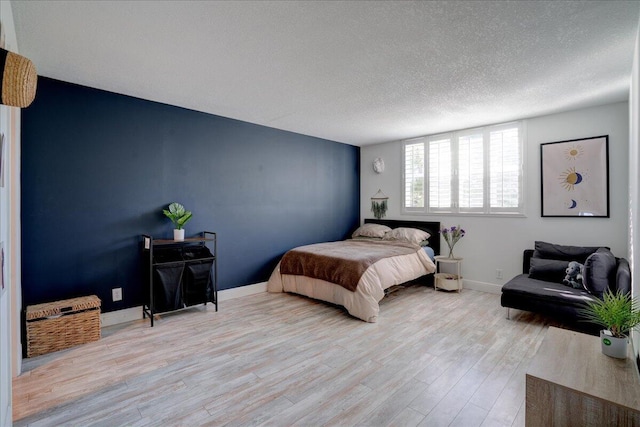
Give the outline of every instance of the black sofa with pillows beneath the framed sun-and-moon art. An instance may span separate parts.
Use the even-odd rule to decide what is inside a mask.
[[[613,266],[609,264],[608,267],[603,267],[602,264],[593,262],[596,256],[589,258],[598,249],[596,247],[578,248],[554,245],[545,242],[536,242],[535,250],[526,249],[522,265],[523,274],[517,275],[502,287],[501,305],[507,308],[507,318],[510,317],[509,308],[515,308],[541,313],[561,321],[571,329],[596,334],[602,328],[583,321],[579,311],[585,307],[586,301],[601,298],[602,293],[588,292],[584,288],[574,289],[562,284],[560,268],[562,262],[568,263],[571,260],[580,262],[585,267],[588,263],[589,277],[600,276],[601,291],[603,290],[602,286],[608,286],[608,289],[613,292],[631,292],[631,272],[628,261],[624,258],[614,257]],[[557,263],[555,263],[556,261]],[[555,272],[544,271],[544,268],[547,268],[546,265],[554,263],[556,264]],[[539,268],[536,271],[536,266],[540,265],[543,266],[543,271]],[[585,277],[585,283],[586,280]],[[594,282],[594,279],[591,279],[591,282]]]

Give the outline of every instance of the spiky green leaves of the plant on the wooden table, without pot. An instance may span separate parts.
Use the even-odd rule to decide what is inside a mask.
[[[587,302],[580,310],[585,320],[608,329],[614,337],[624,338],[640,325],[640,305],[629,294],[607,291],[601,300]]]

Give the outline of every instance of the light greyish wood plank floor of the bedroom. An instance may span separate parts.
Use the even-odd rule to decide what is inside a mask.
[[[421,285],[385,297],[375,324],[290,294],[224,301],[25,359],[14,425],[523,426],[548,324],[514,314]]]

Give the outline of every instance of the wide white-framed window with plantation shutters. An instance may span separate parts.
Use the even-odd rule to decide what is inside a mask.
[[[405,213],[522,214],[521,123],[403,144]]]

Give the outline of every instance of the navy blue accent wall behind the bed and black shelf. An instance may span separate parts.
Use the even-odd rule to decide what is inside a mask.
[[[40,77],[22,112],[23,304],[141,305],[140,234],[172,236],[161,210],[174,201],[194,214],[187,236],[218,233],[220,289],[265,281],[286,250],[358,225],[359,159],[358,147]]]

